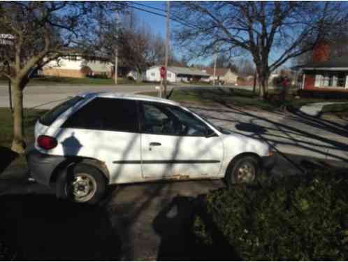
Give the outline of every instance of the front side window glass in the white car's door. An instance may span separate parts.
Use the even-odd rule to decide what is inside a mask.
[[[207,136],[214,134],[204,122],[174,105],[143,103],[144,133],[171,136]]]

